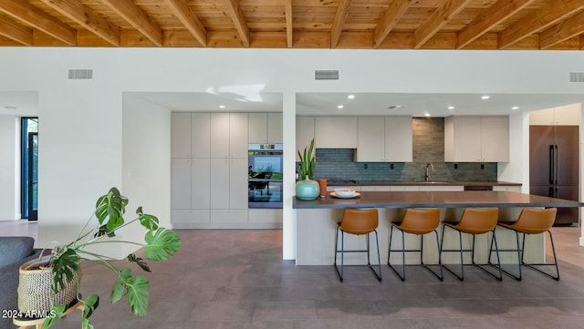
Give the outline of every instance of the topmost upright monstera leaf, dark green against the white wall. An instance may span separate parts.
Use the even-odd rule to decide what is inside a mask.
[[[95,216],[99,224],[107,221],[108,230],[114,231],[124,224],[123,214],[126,211],[128,198],[120,194],[120,190],[111,188],[108,194],[99,197],[95,205]]]

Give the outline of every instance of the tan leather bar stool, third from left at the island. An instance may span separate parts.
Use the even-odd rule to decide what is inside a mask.
[[[460,280],[460,281],[464,280],[464,265],[472,265],[474,267],[477,267],[477,268],[483,270],[484,272],[488,273],[489,275],[495,277],[495,279],[497,279],[498,281],[503,280],[503,274],[501,272],[501,260],[499,258],[499,251],[498,251],[497,246],[496,246],[496,237],[495,237],[495,226],[496,226],[496,223],[498,220],[498,213],[499,213],[499,210],[497,208],[467,208],[464,210],[463,217],[461,218],[461,220],[457,224],[449,223],[449,222],[443,223],[442,239],[440,242],[440,244],[443,247],[444,247],[444,245],[443,245],[444,231],[446,231],[446,228],[450,228],[454,231],[458,231],[460,250],[441,249],[441,257],[442,257],[442,252],[460,252],[460,268],[461,268],[460,275],[456,274],[453,270],[448,268],[448,266],[443,264],[443,267],[446,270],[448,270],[448,272],[453,273],[454,276],[456,276],[458,278],[458,280]],[[485,234],[485,233],[488,233],[489,231],[493,233],[493,238],[491,239],[491,247],[489,248],[489,250],[490,251],[493,250],[493,243],[495,242],[495,252],[496,252],[496,260],[497,260],[496,267],[499,270],[498,276],[495,275],[495,273],[489,272],[485,269],[485,266],[487,266],[487,265],[494,266],[493,263],[491,263],[491,257],[490,257],[491,252],[490,251],[489,251],[488,263],[474,262],[474,238],[477,234]],[[473,235],[473,244],[472,244],[471,249],[463,249],[463,233]],[[464,258],[463,258],[464,252],[471,252],[472,263],[464,264]]]

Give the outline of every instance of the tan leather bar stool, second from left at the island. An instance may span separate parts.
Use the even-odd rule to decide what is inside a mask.
[[[440,243],[438,242],[438,225],[440,224],[440,210],[438,208],[431,209],[407,209],[405,215],[403,216],[403,221],[401,223],[392,223],[390,230],[390,246],[387,255],[387,264],[391,267],[391,270],[395,272],[401,279],[405,280],[405,267],[406,266],[422,266],[428,271],[432,272],[440,281],[443,281],[443,270],[442,261],[440,259]],[[401,249],[391,249],[391,239],[393,237],[393,229],[401,231]],[[423,263],[423,236],[427,233],[434,232],[436,235],[436,247],[438,251],[438,267],[440,268],[440,274],[433,272],[429,267],[435,264],[424,264]],[[405,233],[415,234],[420,237],[421,247],[420,249],[405,249]],[[401,273],[391,265],[391,252],[401,252]],[[406,252],[420,252],[420,263],[419,264],[407,264],[405,263]]]

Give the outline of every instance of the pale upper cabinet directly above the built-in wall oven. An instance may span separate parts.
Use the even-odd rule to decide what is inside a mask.
[[[281,143],[282,113],[250,113],[250,143]]]

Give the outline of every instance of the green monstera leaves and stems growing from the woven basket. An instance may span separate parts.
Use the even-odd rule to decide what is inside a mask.
[[[111,188],[107,194],[99,197],[95,211],[93,211],[83,229],[79,231],[78,236],[72,242],[61,244],[53,249],[49,258],[50,261],[47,264],[54,275],[51,286],[53,294],[57,294],[68,283],[79,277],[79,263],[81,260],[99,262],[117,274],[117,279],[113,283],[110,293],[110,302],[117,303],[125,296],[125,299],[130,304],[132,314],[137,316],[146,315],[149,297],[149,282],[146,277],[141,274],[132,275],[129,267],[119,270],[111,264],[110,261],[113,259],[109,256],[89,252],[87,249],[89,246],[99,243],[130,243],[143,247],[144,257],[147,260],[166,261],[172,258],[181,247],[181,238],[174,231],[159,226],[158,218],[144,213],[141,207],[136,210],[137,218],[126,222],[123,215],[127,204],[128,199],[122,196],[118,189]],[[94,217],[97,219],[97,223],[95,227],[88,230],[90,222],[95,221]],[[145,243],[108,240],[116,235],[116,231],[127,227],[133,222],[140,222],[141,227],[145,229]],[[135,263],[141,270],[150,272],[148,264],[136,254],[131,253],[128,255],[127,260]],[[90,294],[87,297],[84,296],[85,299],[81,299],[78,290],[79,285],[77,284],[77,298],[85,303],[85,310],[82,315],[83,328],[93,328],[93,325],[89,324],[89,316],[99,306],[99,295]],[[50,316],[47,317],[43,328],[50,328],[56,324],[67,308],[68,304],[66,303],[53,305]]]

